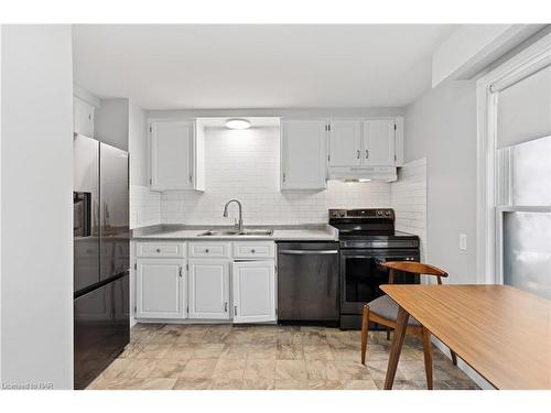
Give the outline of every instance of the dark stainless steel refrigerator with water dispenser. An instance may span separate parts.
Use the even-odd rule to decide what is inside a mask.
[[[86,388],[130,339],[128,153],[74,137],[74,383]]]

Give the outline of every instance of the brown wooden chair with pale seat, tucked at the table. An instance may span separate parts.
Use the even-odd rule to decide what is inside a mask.
[[[386,267],[389,270],[388,283],[392,284],[395,281],[395,271],[401,271],[410,274],[419,275],[435,275],[437,283],[442,284],[442,278],[446,278],[447,273],[441,269],[423,264],[421,262],[411,261],[389,261],[383,262],[380,265]],[[390,338],[390,329],[396,328],[396,319],[398,316],[398,305],[388,296],[380,296],[370,303],[364,304],[364,311],[361,316],[361,363],[366,363],[366,351],[367,351],[367,333],[369,327],[369,322],[375,322],[387,327],[387,339]],[[424,328],[415,318],[409,317],[408,327],[406,328],[406,334],[412,334],[420,336],[423,340],[423,352],[424,352],[424,370],[426,373],[426,387],[432,390],[432,346],[431,346],[431,333]],[[452,354],[452,361],[454,366],[457,366],[457,356],[455,352],[450,350]]]

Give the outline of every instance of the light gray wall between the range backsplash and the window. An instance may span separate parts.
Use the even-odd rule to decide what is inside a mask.
[[[426,157],[426,260],[450,273],[450,283],[476,282],[476,88],[452,81],[406,110],[406,161]],[[467,250],[460,250],[460,233]]]

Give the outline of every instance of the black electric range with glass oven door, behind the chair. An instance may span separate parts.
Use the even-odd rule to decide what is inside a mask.
[[[379,286],[388,283],[380,263],[419,261],[419,237],[396,231],[390,208],[329,209],[329,225],[338,229],[341,328],[358,329],[361,306],[381,296]],[[397,273],[395,283],[419,283],[419,276]]]

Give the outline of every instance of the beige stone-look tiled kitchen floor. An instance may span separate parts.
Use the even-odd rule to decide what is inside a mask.
[[[88,389],[381,389],[390,343],[323,327],[140,324]],[[421,341],[407,337],[395,389],[426,389]],[[436,389],[476,389],[434,348]]]

